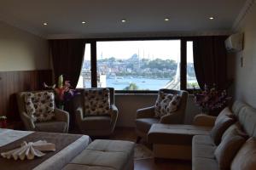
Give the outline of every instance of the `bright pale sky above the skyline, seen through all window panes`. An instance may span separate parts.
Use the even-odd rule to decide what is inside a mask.
[[[188,42],[187,46],[189,63],[193,62],[192,43]],[[141,59],[180,59],[180,40],[97,42],[96,45],[97,59],[129,59],[133,54],[139,54]],[[84,57],[90,59],[90,44],[85,47]]]

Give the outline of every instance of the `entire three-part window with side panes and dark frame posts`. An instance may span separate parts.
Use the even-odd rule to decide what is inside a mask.
[[[77,88],[112,87],[123,92],[198,88],[193,62],[193,42],[182,41],[88,42],[85,45],[84,65]],[[182,47],[183,44],[185,48]]]

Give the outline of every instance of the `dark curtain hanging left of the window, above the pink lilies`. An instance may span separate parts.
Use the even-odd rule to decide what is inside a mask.
[[[79,75],[84,60],[85,42],[81,39],[49,40],[55,73],[55,82],[63,75],[73,88],[79,82]]]

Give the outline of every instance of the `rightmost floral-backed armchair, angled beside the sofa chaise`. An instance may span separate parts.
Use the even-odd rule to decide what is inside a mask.
[[[171,102],[172,97],[169,99],[169,96],[172,96],[174,94],[178,94],[178,96],[180,96],[179,97],[180,101],[178,102],[179,105],[177,106],[170,105],[172,104]],[[139,142],[141,138],[147,137],[148,131],[151,125],[154,123],[165,123],[165,124],[183,123],[184,114],[185,114],[186,105],[187,105],[187,99],[188,99],[188,93],[186,91],[164,89],[164,88],[160,89],[158,94],[158,99],[154,106],[137,110],[137,119],[136,119],[137,142]],[[163,108],[161,108],[160,105],[166,105],[166,106],[163,106]]]

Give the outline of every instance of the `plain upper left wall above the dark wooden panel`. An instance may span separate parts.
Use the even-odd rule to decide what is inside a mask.
[[[46,39],[0,21],[0,71],[50,69]]]

